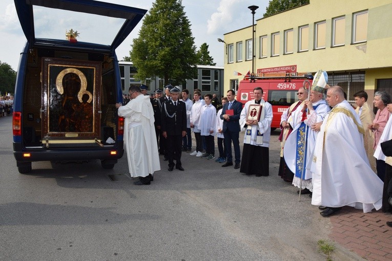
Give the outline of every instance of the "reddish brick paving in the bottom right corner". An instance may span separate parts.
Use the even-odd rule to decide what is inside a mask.
[[[369,261],[392,260],[392,214],[381,210],[363,213],[360,209],[343,207],[330,217],[332,240]]]

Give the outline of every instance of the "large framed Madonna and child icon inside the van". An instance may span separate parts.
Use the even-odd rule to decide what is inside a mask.
[[[101,63],[43,58],[42,138],[99,138]]]

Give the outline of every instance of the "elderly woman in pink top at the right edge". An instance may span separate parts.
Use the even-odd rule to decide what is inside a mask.
[[[389,119],[389,112],[386,105],[391,103],[390,95],[387,92],[376,92],[374,94],[373,104],[378,108],[376,117],[373,124],[369,124],[368,128],[374,132],[374,144],[373,148],[376,149],[377,144],[380,141],[380,137]],[[384,181],[385,176],[385,161],[376,160],[377,176]]]

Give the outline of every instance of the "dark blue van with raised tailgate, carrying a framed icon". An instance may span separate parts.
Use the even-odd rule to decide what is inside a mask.
[[[30,172],[33,161],[98,159],[103,168],[113,168],[124,153],[124,121],[115,107],[122,102],[115,49],[147,10],[92,0],[14,2],[27,39],[12,120],[19,172]],[[46,21],[49,17],[54,20]],[[79,33],[75,27],[81,27]]]

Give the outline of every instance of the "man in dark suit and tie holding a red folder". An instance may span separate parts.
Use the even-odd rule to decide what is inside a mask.
[[[228,101],[223,106],[222,114],[220,118],[223,120],[223,137],[224,145],[227,152],[227,161],[222,167],[233,166],[233,155],[232,155],[232,142],[234,147],[235,165],[234,168],[240,168],[241,153],[239,147],[239,132],[241,130],[239,125],[239,119],[242,111],[242,103],[235,100],[235,91],[229,90],[227,95]],[[229,111],[228,111],[229,110]],[[228,111],[226,113],[226,111]],[[233,112],[233,113],[231,113]]]

